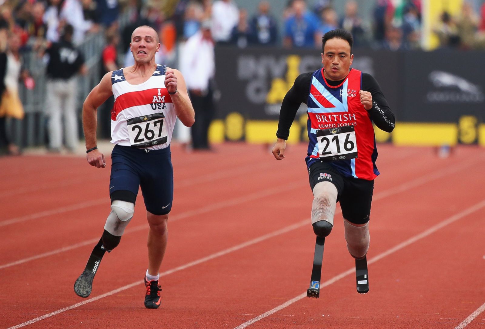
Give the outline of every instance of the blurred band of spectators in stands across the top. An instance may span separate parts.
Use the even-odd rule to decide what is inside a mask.
[[[372,19],[359,15],[358,3],[347,0],[338,15],[332,0],[290,0],[284,12],[276,13],[271,2],[261,0],[254,13],[238,8],[233,0],[0,0],[0,31],[20,37],[21,49],[32,49],[44,41],[59,41],[65,24],[74,27],[73,43],[100,30],[118,34],[123,48],[129,44],[133,26],[146,24],[160,31],[165,52],[186,40],[210,20],[216,43],[317,47],[321,35],[335,28],[352,31],[356,46],[389,49],[420,47],[421,0],[375,0]],[[129,24],[119,30],[125,15]],[[282,24],[280,24],[282,23]],[[282,27],[282,28],[281,28]],[[485,4],[481,11],[464,1],[459,14],[443,12],[433,31],[441,47],[483,46]]]

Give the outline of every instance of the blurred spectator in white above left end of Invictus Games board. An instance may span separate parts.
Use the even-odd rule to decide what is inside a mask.
[[[212,38],[216,43],[228,43],[231,31],[239,20],[238,7],[233,0],[215,0],[212,4]]]

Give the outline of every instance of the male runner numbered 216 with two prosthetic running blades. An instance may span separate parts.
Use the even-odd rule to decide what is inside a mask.
[[[395,119],[372,75],[350,68],[353,43],[346,30],[323,35],[323,68],[295,79],[281,105],[273,148],[276,160],[283,160],[291,123],[300,104],[306,104],[309,144],[305,160],[314,196],[311,222],[317,236],[308,297],[320,294],[323,246],[334,225],[338,201],[347,249],[356,259],[357,291],[369,291],[369,219],[374,179],[379,175],[372,123],[390,133]]]

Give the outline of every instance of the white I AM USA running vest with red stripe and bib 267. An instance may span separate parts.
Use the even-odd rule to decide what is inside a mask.
[[[138,85],[126,81],[123,69],[113,71],[113,144],[151,150],[170,145],[177,115],[165,87],[165,70],[165,65],[157,65],[153,75]]]

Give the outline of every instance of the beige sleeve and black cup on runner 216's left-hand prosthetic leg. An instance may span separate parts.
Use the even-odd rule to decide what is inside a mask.
[[[313,188],[311,224],[319,237],[326,237],[332,231],[337,195],[335,185],[327,181],[317,183]]]

